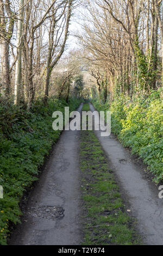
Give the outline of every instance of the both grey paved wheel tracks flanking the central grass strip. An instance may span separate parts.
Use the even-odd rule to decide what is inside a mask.
[[[90,108],[95,110],[91,104]],[[62,132],[10,245],[79,245],[82,241],[79,134],[80,131]],[[113,135],[101,137],[100,131],[96,135],[108,155],[130,214],[137,218],[144,243],[163,245],[163,201],[158,198],[158,188],[143,176],[142,168]]]

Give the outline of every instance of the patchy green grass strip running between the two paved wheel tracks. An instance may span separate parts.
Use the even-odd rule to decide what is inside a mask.
[[[89,105],[84,105],[84,111]],[[140,237],[134,230],[114,174],[93,131],[80,136],[80,169],[83,190],[83,245],[137,245]]]

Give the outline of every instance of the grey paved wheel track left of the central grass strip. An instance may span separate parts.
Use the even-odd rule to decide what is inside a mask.
[[[82,105],[78,111],[81,111]],[[80,131],[62,132],[41,179],[32,192],[27,212],[10,245],[78,245],[80,229]]]

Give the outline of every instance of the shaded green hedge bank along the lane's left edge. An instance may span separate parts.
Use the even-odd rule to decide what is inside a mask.
[[[79,100],[51,99],[48,105],[37,100],[30,112],[16,108],[11,103],[0,102],[0,185],[4,198],[0,199],[0,245],[6,244],[9,224],[20,222],[19,208],[23,192],[37,180],[38,168],[60,136],[52,129],[52,113],[70,112]]]

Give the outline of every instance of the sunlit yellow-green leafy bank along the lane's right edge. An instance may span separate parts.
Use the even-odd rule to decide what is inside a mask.
[[[155,182],[163,179],[163,107],[161,91],[149,96],[118,97],[110,106],[111,129],[125,147],[139,155],[155,174]],[[98,101],[95,107],[104,110]]]

